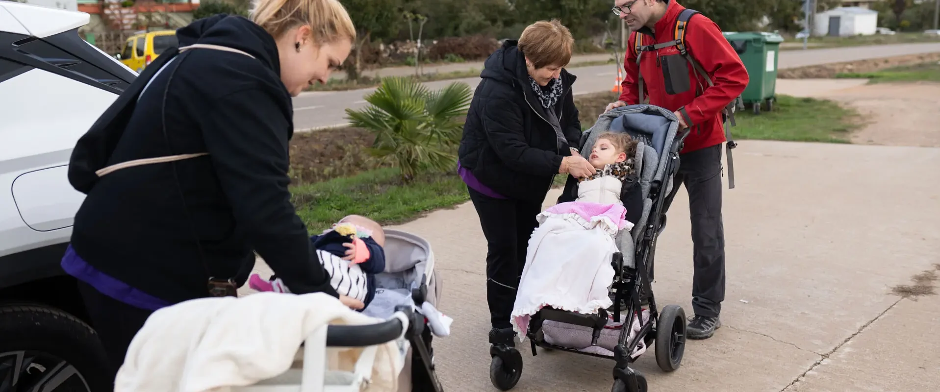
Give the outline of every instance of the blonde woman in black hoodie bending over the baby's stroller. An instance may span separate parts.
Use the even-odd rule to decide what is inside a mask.
[[[263,258],[294,293],[347,306],[290,203],[291,97],[325,83],[355,30],[337,0],[260,0],[177,31],[78,142],[86,199],[62,267],[79,281],[112,362],[154,310],[234,295]],[[113,378],[112,378],[113,380]]]

